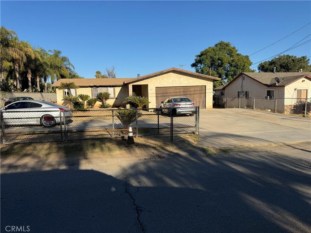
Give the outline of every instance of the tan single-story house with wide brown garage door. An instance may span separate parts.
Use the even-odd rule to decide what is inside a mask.
[[[60,79],[52,84],[59,87],[62,82],[73,81],[79,89],[71,90],[74,95],[88,94],[96,98],[99,92],[109,92],[107,101],[113,107],[125,106],[124,99],[135,92],[149,99],[147,108],[160,107],[161,101],[172,96],[186,96],[200,108],[212,108],[213,80],[220,80],[209,75],[202,75],[178,68],[170,68],[137,78],[116,79]],[[57,103],[63,104],[63,95],[67,90],[56,89]],[[101,103],[97,102],[95,107]]]

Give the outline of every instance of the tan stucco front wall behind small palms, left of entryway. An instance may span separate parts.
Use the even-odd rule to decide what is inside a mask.
[[[91,87],[80,87],[79,89],[76,89],[77,95],[79,94],[87,94],[91,96],[92,98],[92,88]],[[115,87],[114,88],[115,92],[115,97],[116,98],[111,98],[107,100],[107,103],[109,103],[113,107],[119,107],[119,106],[124,106],[124,99],[128,96],[128,89],[127,87]],[[64,105],[63,104],[63,90],[58,90],[56,89],[56,96],[57,96],[57,103],[59,105]],[[99,107],[101,104],[100,101],[97,101],[94,107]]]

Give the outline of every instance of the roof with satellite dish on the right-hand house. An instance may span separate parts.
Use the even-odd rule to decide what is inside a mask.
[[[276,86],[275,77],[280,78],[281,82],[277,86],[289,85],[303,77],[311,79],[311,72],[242,72],[236,76],[231,82],[229,82],[225,87],[230,85],[235,79],[237,79],[241,74],[247,75],[249,78],[265,85],[267,87]]]

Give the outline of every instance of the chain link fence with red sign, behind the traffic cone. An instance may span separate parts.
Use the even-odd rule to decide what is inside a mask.
[[[165,109],[165,108],[163,108]],[[4,144],[119,138],[132,126],[136,137],[199,131],[199,107],[193,114],[165,114],[157,108],[79,111],[2,111]],[[174,124],[171,118],[174,118]]]

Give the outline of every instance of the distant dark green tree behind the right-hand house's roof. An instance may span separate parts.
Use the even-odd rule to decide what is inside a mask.
[[[276,67],[276,72],[298,72],[300,69],[309,72],[311,71],[309,61],[310,59],[307,56],[296,57],[287,54],[260,63],[258,70],[262,72],[273,72],[273,68]]]

